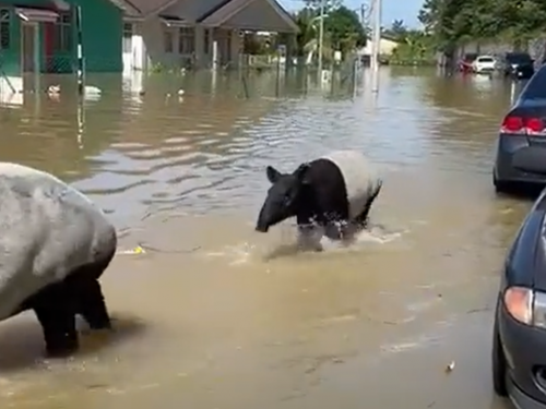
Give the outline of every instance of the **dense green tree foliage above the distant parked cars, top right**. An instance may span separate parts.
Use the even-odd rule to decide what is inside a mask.
[[[468,40],[495,39],[518,47],[546,33],[546,1],[425,0],[419,21],[443,51]]]

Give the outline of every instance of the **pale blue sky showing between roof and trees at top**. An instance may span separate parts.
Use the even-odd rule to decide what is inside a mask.
[[[304,2],[301,0],[278,0],[286,10],[299,9]],[[359,8],[361,3],[369,4],[369,0],[345,0],[348,8]],[[407,25],[417,27],[419,22],[417,13],[423,4],[423,0],[383,0],[383,25],[389,26],[394,20],[403,20]]]

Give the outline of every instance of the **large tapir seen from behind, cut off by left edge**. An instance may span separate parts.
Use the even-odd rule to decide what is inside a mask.
[[[0,321],[34,310],[49,356],[79,347],[75,315],[110,328],[98,278],[117,234],[90,199],[56,177],[0,163]]]

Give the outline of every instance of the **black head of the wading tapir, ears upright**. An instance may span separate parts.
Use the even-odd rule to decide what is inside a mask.
[[[309,164],[299,166],[293,173],[281,173],[272,166],[265,170],[271,188],[263,203],[256,230],[268,232],[270,227],[296,216],[298,206],[301,205],[301,193],[308,184],[306,173]]]

